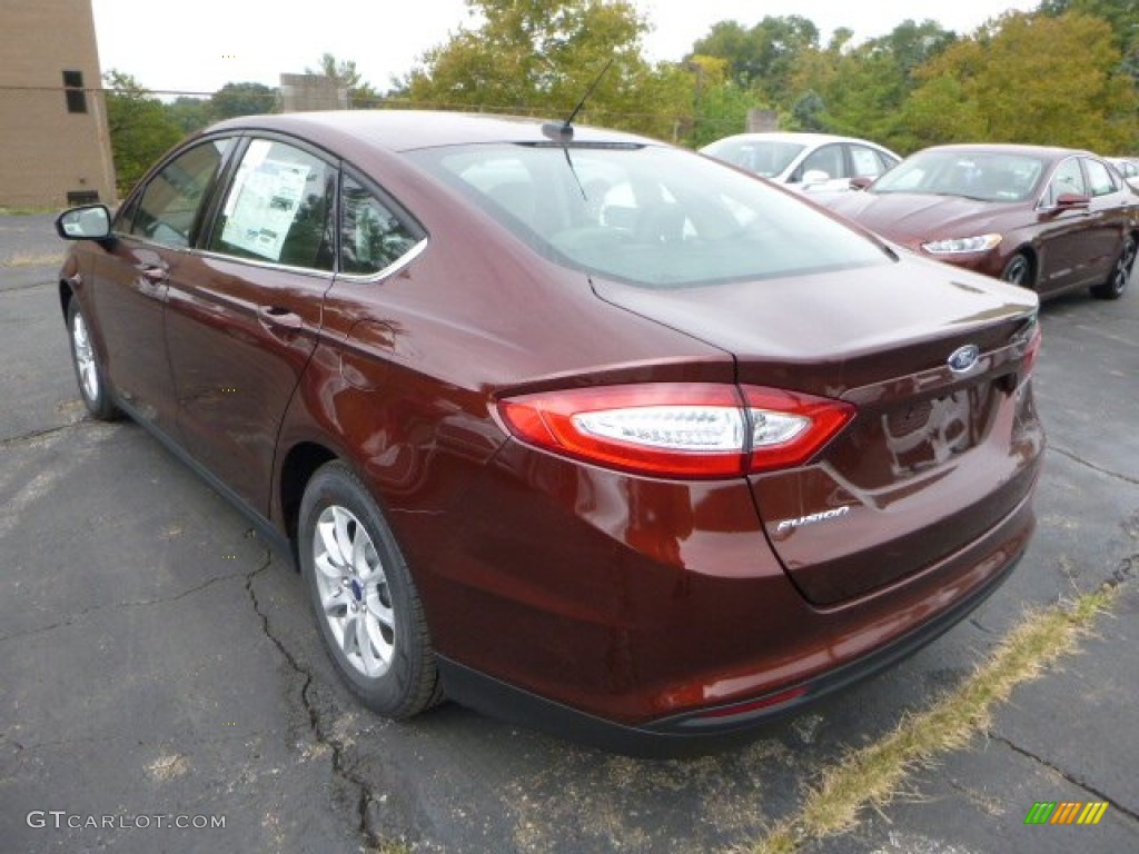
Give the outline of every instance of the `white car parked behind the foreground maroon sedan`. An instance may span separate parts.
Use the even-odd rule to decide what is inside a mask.
[[[700,153],[803,192],[845,191],[852,178],[875,179],[902,159],[875,142],[828,133],[738,133]]]

